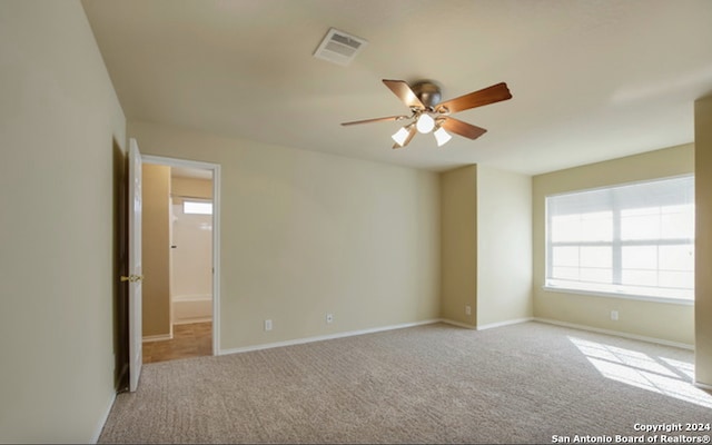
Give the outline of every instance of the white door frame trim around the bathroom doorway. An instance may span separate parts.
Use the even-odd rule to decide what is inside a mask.
[[[141,164],[212,172],[212,355],[220,355],[220,165],[152,155],[141,155]]]

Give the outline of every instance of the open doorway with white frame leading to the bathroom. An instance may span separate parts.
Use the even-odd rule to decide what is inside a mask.
[[[217,355],[219,166],[142,164],[144,363]]]

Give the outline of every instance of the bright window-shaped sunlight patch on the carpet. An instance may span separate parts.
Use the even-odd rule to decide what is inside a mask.
[[[571,336],[568,339],[606,378],[712,408],[712,395],[691,383],[691,363]]]

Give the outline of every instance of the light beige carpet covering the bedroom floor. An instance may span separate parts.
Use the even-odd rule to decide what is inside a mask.
[[[536,322],[434,324],[145,365],[99,442],[651,441],[661,433],[641,426],[712,422],[692,363],[690,350]]]

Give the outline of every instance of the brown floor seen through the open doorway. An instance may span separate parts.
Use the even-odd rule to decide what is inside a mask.
[[[174,325],[174,338],[144,343],[144,363],[212,355],[212,323]]]

